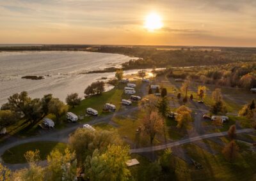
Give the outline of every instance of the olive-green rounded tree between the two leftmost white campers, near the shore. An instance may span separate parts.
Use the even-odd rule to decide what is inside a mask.
[[[60,123],[60,118],[68,111],[68,106],[65,105],[60,99],[52,98],[49,102],[49,113],[52,113],[56,117],[56,123]]]

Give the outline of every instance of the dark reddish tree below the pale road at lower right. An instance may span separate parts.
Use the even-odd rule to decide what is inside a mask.
[[[223,155],[227,161],[232,162],[238,155],[239,147],[234,140],[230,141],[222,150]]]

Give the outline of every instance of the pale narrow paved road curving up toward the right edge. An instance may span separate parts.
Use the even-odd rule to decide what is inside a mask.
[[[236,131],[236,133],[237,134],[239,134],[239,133],[249,133],[249,132],[253,132],[253,131],[255,131],[255,129],[239,129],[239,130]],[[153,151],[157,151],[157,150],[164,150],[165,148],[171,148],[171,147],[183,145],[183,144],[186,144],[186,143],[191,143],[193,141],[202,140],[202,139],[205,139],[205,138],[225,136],[227,134],[228,134],[227,131],[221,132],[221,133],[203,134],[203,135],[200,135],[200,136],[195,136],[195,137],[187,138],[187,139],[180,140],[180,141],[167,143],[165,145],[158,145],[158,146],[155,146],[155,147],[145,147],[145,148],[131,149],[130,152],[132,154],[134,154],[134,153],[143,153],[143,152],[153,152]]]

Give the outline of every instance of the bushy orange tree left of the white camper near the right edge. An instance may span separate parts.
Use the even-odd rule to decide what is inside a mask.
[[[191,110],[187,106],[180,106],[177,109],[176,120],[178,122],[177,127],[187,127],[188,123],[192,121]]]

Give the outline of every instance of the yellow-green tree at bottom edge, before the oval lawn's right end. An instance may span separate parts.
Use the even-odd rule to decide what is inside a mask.
[[[45,180],[74,180],[76,178],[76,154],[68,148],[65,153],[55,149],[47,156]]]

